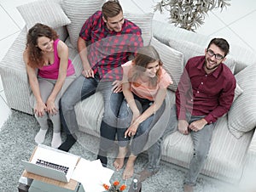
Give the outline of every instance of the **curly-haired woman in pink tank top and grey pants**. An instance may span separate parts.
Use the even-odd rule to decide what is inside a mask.
[[[52,28],[38,23],[27,33],[23,59],[32,89],[31,105],[40,125],[35,141],[44,143],[49,119],[53,124],[51,146],[58,148],[61,145],[59,99],[75,78],[67,45]]]

